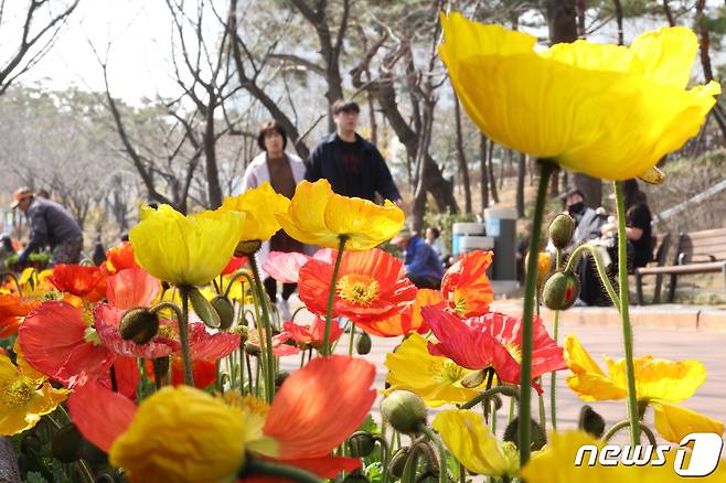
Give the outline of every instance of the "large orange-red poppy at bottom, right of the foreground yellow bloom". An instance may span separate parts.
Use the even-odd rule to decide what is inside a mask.
[[[373,364],[350,356],[318,357],[285,380],[263,433],[277,440],[278,459],[334,477],[360,460],[332,457],[357,429],[375,400]]]

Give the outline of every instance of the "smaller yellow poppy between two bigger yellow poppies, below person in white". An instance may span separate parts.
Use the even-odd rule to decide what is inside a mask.
[[[290,200],[275,192],[269,182],[247,190],[239,196],[226,197],[217,212],[243,212],[245,225],[239,242],[268,240],[280,229],[276,214],[286,213]]]

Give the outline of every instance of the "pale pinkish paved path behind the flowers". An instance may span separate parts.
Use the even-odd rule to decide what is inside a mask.
[[[668,316],[668,315],[664,315]],[[548,328],[551,329],[551,328]],[[576,334],[583,345],[590,352],[595,361],[605,369],[602,356],[608,354],[613,358],[622,357],[621,334],[618,326],[583,325],[579,323],[565,323],[560,328],[560,334]],[[636,326],[636,356],[651,354],[654,357],[672,361],[684,361],[695,358],[701,361],[707,371],[706,382],[701,386],[695,396],[682,405],[690,409],[706,414],[712,418],[726,421],[726,332],[707,332],[693,330],[652,329]],[[343,335],[338,352],[344,353],[348,347],[348,334]],[[344,342],[344,343],[342,343]],[[385,354],[393,351],[399,339],[373,337],[373,350],[366,358],[376,367],[376,388],[382,389],[385,384],[386,368],[383,365]],[[284,369],[295,369],[299,359],[286,357],[282,359]],[[565,375],[562,372],[557,378],[558,408],[557,416],[559,429],[574,428],[579,415],[579,408],[584,405],[565,384]],[[546,378],[545,397],[548,398],[548,378]],[[378,401],[373,411],[376,419],[378,416]],[[626,416],[624,401],[590,402],[590,405],[602,415],[608,426],[623,419]],[[547,407],[547,414],[548,410]],[[652,411],[650,411],[652,412]],[[536,415],[536,405],[533,404],[533,414]],[[652,421],[652,415],[649,415]]]

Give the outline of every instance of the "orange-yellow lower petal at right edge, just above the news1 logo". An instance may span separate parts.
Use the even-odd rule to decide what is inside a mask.
[[[692,432],[724,433],[724,423],[700,412],[662,401],[651,401],[655,412],[655,429],[663,439],[679,443]]]

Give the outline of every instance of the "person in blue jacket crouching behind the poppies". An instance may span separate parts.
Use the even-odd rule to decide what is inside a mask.
[[[436,250],[409,228],[391,240],[404,250],[406,277],[419,289],[440,289],[444,265]]]

